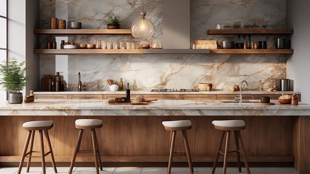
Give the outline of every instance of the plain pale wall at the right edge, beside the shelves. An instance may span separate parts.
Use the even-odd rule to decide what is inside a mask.
[[[310,0],[287,0],[287,28],[293,28],[294,54],[287,61],[287,78],[294,91],[302,92],[302,102],[310,104]]]

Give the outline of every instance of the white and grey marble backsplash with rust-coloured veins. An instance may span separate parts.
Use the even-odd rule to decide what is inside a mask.
[[[162,41],[162,0],[145,0],[147,16],[156,27],[155,36],[140,43]],[[40,27],[49,28],[49,18],[63,16],[80,21],[83,28],[105,28],[108,12],[118,15],[121,28],[130,28],[142,10],[142,0],[40,0]],[[286,0],[191,0],[191,41],[233,40],[237,36],[207,35],[209,28],[224,24],[232,28],[286,28]],[[46,39],[41,36],[41,48]],[[274,48],[276,36],[255,36],[254,41],[268,41]],[[77,43],[105,41],[139,41],[132,36],[76,35],[68,40]],[[106,79],[138,88],[198,88],[198,83],[213,83],[223,90],[228,85],[247,80],[251,90],[266,89],[276,79],[286,77],[285,55],[69,55],[68,90],[77,89],[77,73],[81,72],[83,90],[108,90]],[[40,55],[40,76],[55,73],[55,56]]]

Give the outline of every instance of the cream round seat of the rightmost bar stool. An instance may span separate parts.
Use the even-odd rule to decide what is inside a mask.
[[[246,126],[244,120],[213,120],[212,124],[220,130],[242,130]]]

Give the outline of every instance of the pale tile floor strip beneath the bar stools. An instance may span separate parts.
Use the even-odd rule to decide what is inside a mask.
[[[18,168],[0,168],[0,174],[17,174]],[[222,174],[223,168],[216,168],[215,174]],[[67,174],[68,167],[57,167],[58,174]],[[299,174],[294,168],[250,168],[251,174]],[[54,174],[53,169],[48,167],[47,174]],[[167,168],[141,168],[141,167],[105,167],[100,174],[166,174]],[[27,174],[26,168],[22,169],[21,174]],[[31,167],[28,174],[42,174],[42,168]],[[96,174],[95,168],[77,167],[73,169],[73,174]],[[188,168],[174,167],[171,174],[190,174]],[[211,168],[195,167],[194,174],[212,174]],[[226,174],[247,174],[246,169],[242,168],[242,173],[237,168],[227,168]]]

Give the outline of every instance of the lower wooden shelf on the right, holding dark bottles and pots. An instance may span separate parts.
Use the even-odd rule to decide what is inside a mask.
[[[293,49],[217,49],[217,50],[210,50],[210,54],[293,54]]]

